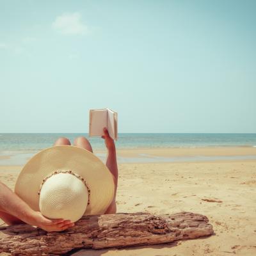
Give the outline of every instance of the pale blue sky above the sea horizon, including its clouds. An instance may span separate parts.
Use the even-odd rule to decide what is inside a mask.
[[[0,0],[0,132],[256,132],[256,1]]]

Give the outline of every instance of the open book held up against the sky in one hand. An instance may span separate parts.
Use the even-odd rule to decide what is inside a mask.
[[[104,127],[108,128],[109,136],[117,140],[117,113],[109,108],[91,109],[89,136],[104,135]]]

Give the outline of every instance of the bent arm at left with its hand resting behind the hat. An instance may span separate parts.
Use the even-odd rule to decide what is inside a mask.
[[[40,212],[33,211],[26,202],[6,185],[0,182],[0,218],[8,225],[28,223],[46,231],[61,231],[72,227],[74,223],[62,219],[49,220]]]

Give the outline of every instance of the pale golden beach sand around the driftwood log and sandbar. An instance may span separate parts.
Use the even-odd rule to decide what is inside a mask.
[[[136,149],[118,150],[118,154],[242,156],[255,155],[256,148]],[[13,189],[21,168],[0,166],[0,180]],[[196,212],[209,218],[214,236],[154,246],[81,250],[74,255],[256,255],[256,160],[125,163],[118,164],[118,170],[118,212]]]

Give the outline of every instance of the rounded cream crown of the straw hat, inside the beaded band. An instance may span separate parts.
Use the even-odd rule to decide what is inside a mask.
[[[56,173],[47,178],[40,191],[40,212],[52,219],[77,221],[88,204],[84,182],[70,173]]]

